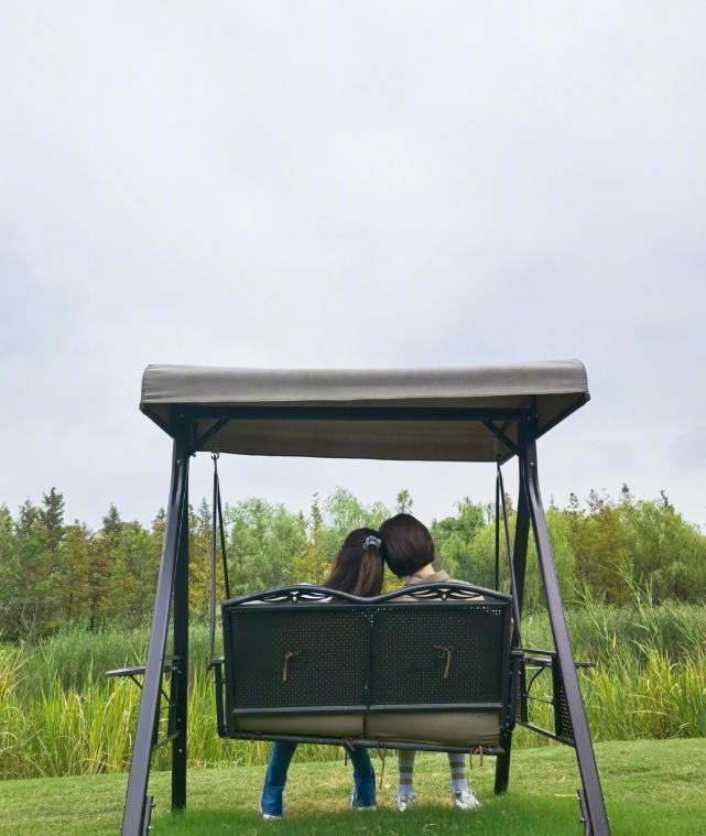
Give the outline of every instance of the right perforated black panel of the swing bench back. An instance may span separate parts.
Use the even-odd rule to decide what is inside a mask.
[[[372,623],[371,706],[507,702],[506,604],[392,604]]]

